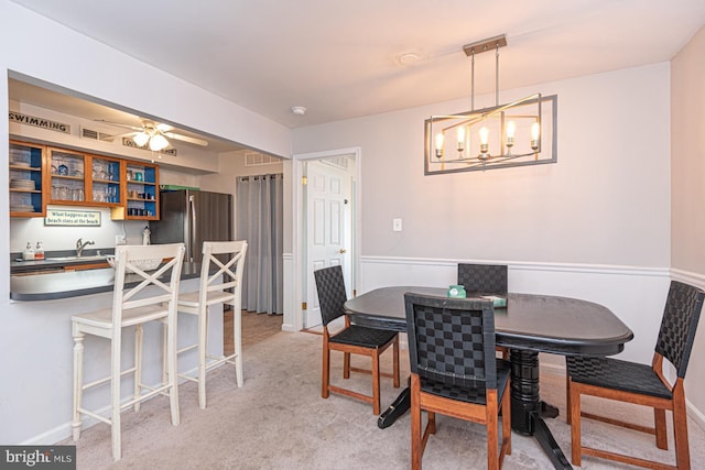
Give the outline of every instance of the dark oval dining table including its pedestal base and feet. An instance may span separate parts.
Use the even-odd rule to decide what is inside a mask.
[[[426,286],[381,287],[345,303],[355,325],[406,332],[404,293],[445,297],[447,288]],[[481,293],[468,293],[481,297]],[[612,356],[623,350],[633,332],[607,307],[571,297],[542,294],[507,294],[506,306],[495,308],[497,346],[509,348],[511,362],[512,430],[533,436],[554,468],[571,469],[545,417],[558,415],[540,396],[539,353]],[[378,426],[386,428],[410,407],[409,387],[384,411]]]

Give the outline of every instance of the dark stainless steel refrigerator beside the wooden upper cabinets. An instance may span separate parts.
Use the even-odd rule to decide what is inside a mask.
[[[160,192],[160,220],[150,222],[152,243],[186,244],[185,261],[199,263],[204,241],[232,240],[232,195],[180,189]]]

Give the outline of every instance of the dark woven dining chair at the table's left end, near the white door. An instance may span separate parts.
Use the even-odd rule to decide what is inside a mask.
[[[372,404],[372,413],[379,415],[379,380],[380,376],[392,378],[394,387],[399,387],[399,335],[397,331],[367,328],[350,324],[350,318],[345,313],[345,281],[340,266],[330,266],[317,270],[314,273],[318,304],[323,319],[323,378],[321,396],[327,398],[329,393],[350,396]],[[345,317],[345,327],[335,334],[330,334],[330,321]],[[382,373],[379,370],[379,357],[389,347],[392,347],[393,372]],[[343,378],[349,379],[350,371],[362,372],[372,375],[372,395],[365,395],[348,389],[330,385],[330,351],[343,352]],[[372,370],[358,369],[350,365],[350,354],[367,356],[372,359]]]

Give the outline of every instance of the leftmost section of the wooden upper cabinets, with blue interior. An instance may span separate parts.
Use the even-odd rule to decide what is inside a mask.
[[[44,145],[10,141],[10,217],[44,217],[47,178]]]

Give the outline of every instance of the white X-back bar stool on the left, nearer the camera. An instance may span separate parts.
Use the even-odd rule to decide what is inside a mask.
[[[116,247],[112,306],[72,317],[74,440],[78,440],[80,437],[82,415],[106,423],[111,426],[112,458],[116,461],[121,457],[120,412],[122,409],[134,406],[137,412],[142,401],[158,394],[164,394],[170,398],[172,424],[177,426],[180,422],[176,381],[176,297],[184,251],[183,243]],[[155,271],[145,272],[143,265],[147,260],[166,261],[161,263],[161,266]],[[167,372],[165,375],[169,380],[158,386],[142,383],[142,326],[149,321],[162,321],[165,329],[164,364]],[[134,327],[134,364],[130,369],[122,370],[120,359],[122,332],[130,327]],[[86,335],[110,341],[110,374],[89,383],[84,383],[84,339]],[[133,395],[127,402],[121,402],[120,379],[127,374],[131,374],[133,378]],[[98,412],[84,408],[82,403],[84,392],[108,383],[110,384],[110,416],[105,417]]]

